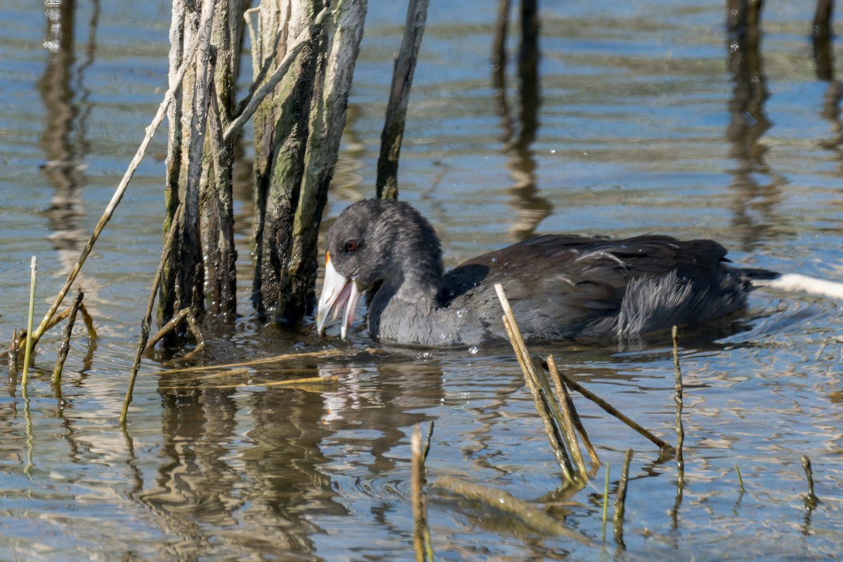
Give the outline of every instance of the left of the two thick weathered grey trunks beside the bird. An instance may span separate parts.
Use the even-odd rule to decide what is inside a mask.
[[[234,111],[244,0],[174,0],[170,25],[170,81],[198,41],[196,58],[169,106],[167,215],[164,232],[182,206],[175,252],[160,289],[159,321],[183,308],[234,318],[234,214],[231,169],[233,140],[223,142]]]

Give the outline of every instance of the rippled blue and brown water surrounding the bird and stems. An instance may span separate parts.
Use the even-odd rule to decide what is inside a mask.
[[[373,194],[402,4],[370,5],[331,217]],[[745,264],[839,277],[840,84],[817,76],[813,14],[801,4],[765,6],[762,72],[736,76],[722,3],[543,3],[530,136],[516,29],[497,88],[491,3],[432,3],[401,197],[438,227],[450,265],[531,233],[658,231],[715,237]],[[169,11],[164,0],[79,2],[67,60],[46,48],[43,5],[0,6],[0,340],[25,324],[30,256],[40,317],[142,138],[163,94]],[[248,309],[245,220],[244,318],[211,335],[207,362],[298,355],[231,372],[167,372],[146,360],[126,438],[117,419],[158,263],[163,153],[159,136],[85,265],[100,338],[90,346],[78,328],[61,399],[48,375],[57,333],[40,345],[29,401],[17,378],[4,386],[0,559],[413,559],[409,436],[432,421],[425,497],[438,559],[835,559],[843,550],[840,303],[801,295],[754,293],[733,329],[682,340],[680,497],[674,463],[575,397],[612,490],[634,451],[626,549],[610,529],[601,540],[605,465],[588,490],[561,494],[508,346],[370,351],[362,333],[341,344],[309,325],[260,326]],[[674,441],[668,347],[534,351]],[[336,383],[276,384],[316,376]],[[803,454],[820,500],[813,510]],[[505,490],[593,543],[460,500],[434,485],[443,476]]]

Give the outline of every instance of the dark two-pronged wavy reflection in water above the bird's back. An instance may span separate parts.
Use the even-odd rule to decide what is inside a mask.
[[[504,150],[512,154],[507,161],[514,180],[510,193],[510,205],[518,212],[518,221],[510,228],[510,236],[524,240],[533,236],[535,228],[552,209],[550,201],[537,195],[535,182],[535,158],[530,145],[539,128],[540,84],[539,84],[539,14],[535,0],[521,2],[521,44],[518,51],[518,85],[520,129],[515,135],[515,125],[507,104],[507,26],[509,23],[509,0],[499,0],[497,26],[492,44],[491,83],[497,96],[497,107],[501,114],[502,142]]]

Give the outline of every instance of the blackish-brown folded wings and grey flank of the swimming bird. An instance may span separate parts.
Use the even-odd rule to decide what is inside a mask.
[[[744,308],[749,284],[725,255],[712,240],[546,235],[449,271],[442,302],[465,311],[466,330],[505,337],[501,283],[526,339],[627,338]]]

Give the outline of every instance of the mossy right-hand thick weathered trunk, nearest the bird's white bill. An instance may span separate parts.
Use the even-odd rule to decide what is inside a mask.
[[[341,2],[332,33],[323,26],[308,34],[327,9],[322,0],[298,0],[287,13],[271,0],[260,3],[256,73],[304,41],[255,114],[253,300],[258,313],[282,322],[296,322],[313,308],[319,221],[346,124],[367,6],[367,0]],[[274,36],[281,40],[267,42]]]

